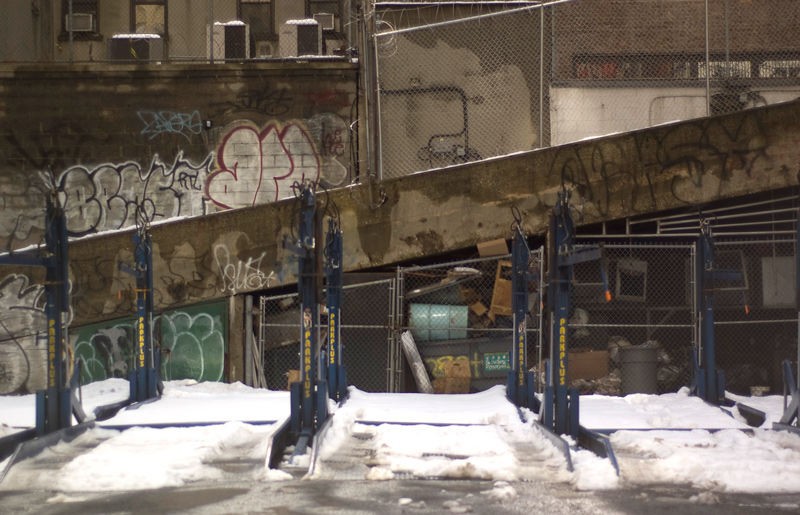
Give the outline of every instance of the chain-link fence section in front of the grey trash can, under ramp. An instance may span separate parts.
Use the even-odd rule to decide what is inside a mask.
[[[574,267],[569,381],[581,393],[664,393],[690,384],[694,246],[607,244]]]

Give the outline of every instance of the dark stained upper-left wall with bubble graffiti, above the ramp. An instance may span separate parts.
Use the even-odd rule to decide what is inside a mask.
[[[346,184],[354,65],[16,68],[0,75],[0,248],[39,241],[43,188],[73,236]],[[187,94],[191,92],[191,94]],[[52,174],[52,177],[43,175]]]

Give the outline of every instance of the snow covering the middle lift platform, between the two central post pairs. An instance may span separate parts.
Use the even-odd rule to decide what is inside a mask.
[[[353,433],[369,436],[367,479],[415,477],[568,480],[566,460],[495,386],[463,395],[365,393],[350,387],[320,451],[324,462]],[[370,422],[373,424],[366,424]],[[380,422],[380,424],[374,424]],[[536,454],[536,473],[520,451]],[[324,468],[317,476],[324,477]]]

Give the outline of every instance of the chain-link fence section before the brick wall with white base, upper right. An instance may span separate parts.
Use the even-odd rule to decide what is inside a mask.
[[[798,21],[790,0],[556,6],[552,144],[796,99]]]

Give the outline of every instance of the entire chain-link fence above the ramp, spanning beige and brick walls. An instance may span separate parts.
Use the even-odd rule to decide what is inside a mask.
[[[381,176],[794,100],[798,23],[792,0],[381,11]]]

